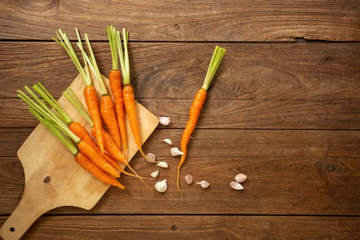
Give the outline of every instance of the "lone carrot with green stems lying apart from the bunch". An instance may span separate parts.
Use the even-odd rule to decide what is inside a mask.
[[[199,119],[200,112],[202,110],[202,106],[204,106],[204,102],[206,99],[208,87],[210,86],[211,82],[213,81],[213,77],[219,67],[219,64],[224,57],[224,54],[226,52],[226,49],[223,49],[221,47],[216,46],[213,57],[211,58],[211,62],[208,66],[208,71],[206,72],[206,77],[204,80],[204,83],[202,84],[202,87],[195,93],[195,96],[193,98],[193,102],[191,104],[190,110],[189,110],[189,119],[187,121],[187,125],[184,128],[184,132],[182,132],[181,137],[181,151],[182,156],[180,158],[180,162],[178,163],[178,178],[177,178],[177,187],[178,190],[181,193],[182,197],[182,191],[180,190],[180,169],[182,164],[185,161],[185,158],[187,157],[187,145],[189,143],[189,140],[191,139],[191,134],[195,130],[195,126],[197,124],[197,120]],[[182,198],[181,198],[182,199]]]

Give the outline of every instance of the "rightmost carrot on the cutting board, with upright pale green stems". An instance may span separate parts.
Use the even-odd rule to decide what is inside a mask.
[[[123,28],[123,46],[124,52],[121,47],[121,36],[120,32],[117,31],[117,49],[119,51],[119,58],[121,63],[121,72],[123,73],[123,102],[125,106],[126,113],[128,114],[128,119],[130,122],[130,128],[132,135],[134,136],[135,143],[139,149],[141,155],[147,159],[148,157],[144,154],[143,148],[141,147],[141,134],[139,129],[139,120],[136,112],[136,101],[134,96],[134,89],[130,84],[130,64],[129,64],[129,54],[128,54],[128,38],[129,31],[125,31]],[[152,160],[149,160],[151,162]]]

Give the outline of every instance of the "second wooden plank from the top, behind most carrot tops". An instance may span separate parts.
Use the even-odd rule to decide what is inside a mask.
[[[359,46],[224,44],[228,51],[198,127],[359,129]],[[102,71],[108,71],[108,45],[95,43],[94,49]],[[132,43],[136,97],[156,115],[176,119],[173,128],[182,128],[212,50],[205,43]],[[16,98],[16,90],[40,80],[60,97],[77,75],[75,67],[55,43],[19,43],[14,48],[3,42],[0,52],[0,125],[34,127],[37,122]]]

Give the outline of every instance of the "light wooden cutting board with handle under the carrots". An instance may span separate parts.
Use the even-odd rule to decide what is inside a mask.
[[[104,82],[108,86],[106,77],[104,77]],[[84,86],[80,75],[70,85],[86,106],[82,97]],[[99,89],[96,82],[95,86]],[[73,121],[83,123],[90,130],[89,125],[77,114],[64,96],[60,97],[58,102],[67,110]],[[139,103],[137,103],[137,109],[141,138],[145,142],[157,127],[158,117]],[[126,121],[130,161],[138,148],[132,137],[128,119]],[[110,187],[82,169],[75,162],[73,154],[62,146],[43,125],[39,124],[34,129],[17,154],[25,172],[25,189],[19,205],[0,229],[0,236],[5,240],[20,239],[38,217],[53,208],[60,206],[77,206],[86,210],[93,208]],[[121,178],[119,180],[121,182]]]

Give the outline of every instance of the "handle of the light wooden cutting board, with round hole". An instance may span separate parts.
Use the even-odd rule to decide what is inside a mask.
[[[24,192],[18,206],[12,212],[10,217],[0,228],[0,236],[4,240],[21,239],[24,233],[32,226],[34,221],[43,213],[51,210],[49,203],[32,200],[29,195]]]

